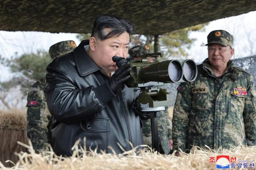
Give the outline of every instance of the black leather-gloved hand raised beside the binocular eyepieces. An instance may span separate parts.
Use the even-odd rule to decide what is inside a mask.
[[[114,57],[117,57],[117,56],[114,56]],[[109,85],[110,89],[112,90],[112,92],[114,94],[116,94],[118,92],[120,86],[126,80],[128,80],[130,78],[131,68],[130,68],[130,63],[122,57],[118,57],[118,58],[115,58],[115,59],[112,59],[112,60],[116,62],[116,65],[118,66],[118,69],[108,80],[108,85]],[[122,64],[120,64],[120,61],[121,61]]]

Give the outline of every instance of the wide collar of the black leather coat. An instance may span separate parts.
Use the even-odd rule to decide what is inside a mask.
[[[83,40],[76,49],[74,49],[74,59],[80,76],[86,76],[92,72],[100,70],[100,67],[89,57],[84,46],[89,45],[89,40]]]

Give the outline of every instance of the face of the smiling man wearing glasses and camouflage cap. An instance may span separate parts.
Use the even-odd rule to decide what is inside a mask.
[[[208,59],[211,66],[226,69],[227,63],[234,54],[234,49],[220,44],[208,45]]]

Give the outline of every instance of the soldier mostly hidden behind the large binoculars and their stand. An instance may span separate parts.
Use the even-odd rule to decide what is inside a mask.
[[[129,49],[130,57],[141,60],[144,54],[150,53],[148,45],[136,45]],[[156,62],[156,58],[148,57],[148,62]],[[150,119],[142,120],[144,144],[152,147]],[[168,109],[162,111],[157,121],[159,149],[162,154],[169,154],[172,149],[172,121],[168,115]]]

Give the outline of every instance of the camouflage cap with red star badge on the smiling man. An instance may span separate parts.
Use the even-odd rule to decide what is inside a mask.
[[[207,36],[207,44],[221,44],[225,46],[230,46],[231,48],[233,47],[233,35],[228,33],[228,31],[224,30],[214,30],[210,32]]]

